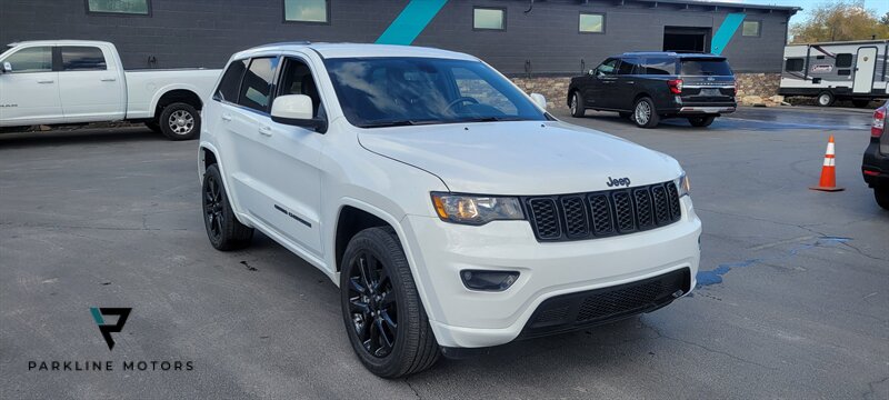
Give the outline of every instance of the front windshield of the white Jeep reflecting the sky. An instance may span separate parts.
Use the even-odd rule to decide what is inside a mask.
[[[479,61],[350,58],[326,64],[356,127],[546,120],[521,91]]]

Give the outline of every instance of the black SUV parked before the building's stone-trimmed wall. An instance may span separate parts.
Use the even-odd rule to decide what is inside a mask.
[[[618,111],[642,128],[675,117],[708,127],[716,117],[735,111],[735,73],[725,57],[628,52],[571,79],[568,107],[578,118],[587,109]]]

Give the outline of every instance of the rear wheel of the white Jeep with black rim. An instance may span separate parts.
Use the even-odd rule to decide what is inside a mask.
[[[253,229],[238,221],[222,184],[222,176],[214,164],[203,173],[201,198],[203,226],[207,228],[207,238],[210,239],[213,248],[229,251],[243,249],[250,244]]]

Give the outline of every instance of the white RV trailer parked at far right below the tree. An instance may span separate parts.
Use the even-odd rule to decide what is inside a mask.
[[[889,40],[787,46],[778,93],[816,97],[819,106],[840,99],[865,107],[889,97],[888,51]]]

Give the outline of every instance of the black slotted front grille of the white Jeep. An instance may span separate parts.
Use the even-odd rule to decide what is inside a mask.
[[[682,212],[673,182],[522,201],[538,241],[627,234],[673,223]]]

